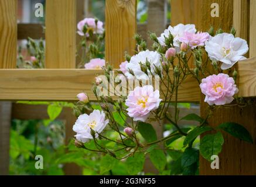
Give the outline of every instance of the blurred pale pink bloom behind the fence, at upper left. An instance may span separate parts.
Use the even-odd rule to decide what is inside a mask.
[[[84,25],[87,25],[87,32],[88,30],[93,30],[94,34],[95,33],[102,34],[104,32],[103,22],[98,20],[96,25],[94,18],[84,18],[83,20],[77,23],[77,29],[78,29],[77,33],[80,36],[84,36],[84,32],[83,32]],[[86,36],[88,37],[88,33],[86,33]]]

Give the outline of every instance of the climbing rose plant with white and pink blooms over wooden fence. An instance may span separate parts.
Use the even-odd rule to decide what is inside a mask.
[[[102,33],[101,22],[83,20],[78,23],[78,34],[84,39]],[[248,45],[247,41],[234,36],[234,29],[231,33],[223,33],[221,29],[214,32],[211,27],[208,32],[199,32],[194,25],[179,24],[169,26],[159,37],[151,33],[153,44],[149,50],[146,42],[136,34],[135,55],[125,54],[120,69],[114,70],[114,78],[110,65],[92,59],[86,68],[104,70],[104,77],[96,77],[93,84],[100,105],[91,103],[86,93],[77,95],[79,101],[74,106],[74,113],[78,119],[73,126],[77,133],[76,146],[108,155],[111,162],[126,161],[131,174],[142,170],[146,154],[161,172],[168,168],[166,154],[169,154],[176,161],[171,168],[179,164],[182,174],[196,174],[199,154],[211,161],[212,155],[221,152],[223,131],[253,143],[250,133],[241,124],[224,122],[217,127],[209,124],[214,109],[249,104],[237,96],[239,88],[234,67],[235,63],[245,59]],[[190,62],[194,63],[193,68]],[[198,82],[208,107],[203,116],[191,113],[180,117],[179,89],[191,77]],[[129,82],[138,84],[133,87],[134,84]],[[155,82],[159,82],[159,86]],[[102,94],[103,88],[114,90],[114,96]],[[111,88],[118,88],[118,91]],[[199,125],[193,129],[182,128],[180,120],[192,120]],[[152,123],[165,126],[166,122],[176,130],[158,138]],[[205,132],[208,133],[201,139],[198,149],[194,141]],[[183,137],[184,151],[170,149],[169,144],[180,137]]]

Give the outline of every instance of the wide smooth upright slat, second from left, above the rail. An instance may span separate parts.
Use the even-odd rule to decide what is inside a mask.
[[[46,68],[76,67],[76,0],[46,2]]]

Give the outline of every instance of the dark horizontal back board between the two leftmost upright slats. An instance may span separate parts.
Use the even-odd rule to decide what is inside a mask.
[[[45,39],[43,25],[38,23],[19,23],[18,24],[18,40],[28,39]]]

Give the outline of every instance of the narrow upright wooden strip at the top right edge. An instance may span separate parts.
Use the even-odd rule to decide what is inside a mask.
[[[256,1],[250,1],[250,58],[256,56]]]

